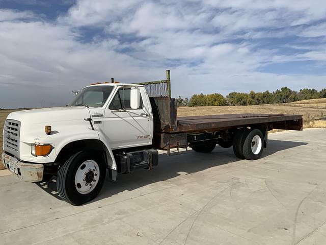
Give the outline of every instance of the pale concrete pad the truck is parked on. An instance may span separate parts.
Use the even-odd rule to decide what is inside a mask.
[[[79,207],[60,199],[56,179],[2,176],[0,244],[324,244],[325,136],[270,134],[256,161],[219,146],[161,152],[153,170],[106,179]]]

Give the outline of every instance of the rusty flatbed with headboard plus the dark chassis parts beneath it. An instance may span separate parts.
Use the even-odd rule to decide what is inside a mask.
[[[241,145],[239,148],[242,149],[243,142],[236,142],[239,141],[237,134],[253,129],[259,129],[263,134],[263,146],[266,148],[269,130],[303,129],[302,115],[243,113],[178,117],[176,100],[171,98],[170,82],[167,70],[167,80],[141,83],[147,90],[153,110],[152,146],[168,151],[168,155],[173,148],[187,149],[190,146],[196,151],[197,145],[205,148],[207,143],[211,143],[211,149],[214,143],[225,148]],[[236,155],[241,157],[241,154]]]

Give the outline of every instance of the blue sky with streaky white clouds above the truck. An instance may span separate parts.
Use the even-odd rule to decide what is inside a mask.
[[[111,77],[172,95],[326,87],[326,2],[0,0],[0,108]]]

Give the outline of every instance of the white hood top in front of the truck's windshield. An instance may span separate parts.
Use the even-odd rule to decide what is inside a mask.
[[[7,118],[29,124],[53,123],[57,121],[83,120],[90,117],[84,106],[51,107],[12,112]]]

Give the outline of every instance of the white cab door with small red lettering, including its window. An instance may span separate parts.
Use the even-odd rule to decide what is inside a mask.
[[[113,149],[151,144],[150,113],[140,96],[138,109],[130,107],[129,86],[116,90],[104,113],[104,132]]]

